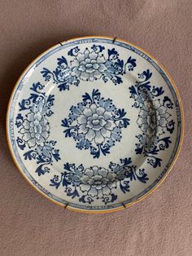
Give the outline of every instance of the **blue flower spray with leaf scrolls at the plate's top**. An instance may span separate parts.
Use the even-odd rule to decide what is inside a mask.
[[[50,71],[43,68],[42,76],[46,81],[53,81],[58,85],[59,90],[69,90],[71,85],[78,86],[80,81],[93,82],[103,78],[103,82],[111,80],[115,85],[122,83],[122,76],[133,71],[136,67],[136,60],[131,56],[124,61],[120,60],[115,48],[108,49],[104,46],[93,45],[86,47],[85,51],[80,51],[76,46],[68,51],[71,60],[64,56],[57,59],[57,67]]]

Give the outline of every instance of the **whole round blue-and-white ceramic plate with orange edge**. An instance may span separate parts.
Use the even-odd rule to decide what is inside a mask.
[[[11,95],[7,137],[29,183],[68,209],[109,212],[152,192],[182,137],[181,99],[152,57],[88,37],[37,57]]]

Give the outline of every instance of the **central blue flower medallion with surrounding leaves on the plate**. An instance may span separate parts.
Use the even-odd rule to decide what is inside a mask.
[[[82,95],[82,102],[70,108],[68,118],[61,126],[65,137],[76,141],[76,148],[89,149],[94,158],[110,153],[110,148],[120,142],[121,129],[129,126],[124,108],[117,109],[111,99],[101,97],[99,90]]]

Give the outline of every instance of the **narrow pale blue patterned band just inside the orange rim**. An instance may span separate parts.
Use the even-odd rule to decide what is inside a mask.
[[[26,77],[26,75],[31,70],[31,68],[34,68],[34,69],[37,68],[37,66],[39,64],[41,64],[42,61],[46,60],[50,55],[53,55],[55,52],[61,51],[61,50],[65,49],[69,46],[76,46],[76,45],[79,45],[79,44],[89,43],[89,42],[99,42],[99,43],[107,43],[107,44],[111,43],[111,45],[122,46],[126,49],[129,49],[129,51],[133,51],[137,55],[142,56],[142,58],[144,58],[146,61],[148,61],[150,64],[152,64],[153,67],[164,78],[164,81],[167,83],[169,90],[171,90],[171,92],[172,92],[172,97],[174,99],[174,103],[175,103],[176,109],[177,109],[177,123],[178,123],[178,125],[177,125],[177,141],[176,141],[174,150],[172,152],[172,156],[170,157],[167,166],[162,171],[162,173],[159,175],[158,179],[156,179],[155,182],[152,183],[151,186],[146,188],[143,192],[139,193],[137,196],[133,196],[132,198],[130,198],[127,201],[124,201],[124,202],[121,202],[121,203],[118,203],[118,204],[114,204],[114,205],[103,205],[103,206],[77,205],[77,204],[74,204],[74,203],[68,203],[68,201],[64,201],[63,199],[59,198],[58,196],[55,196],[54,194],[50,193],[45,188],[42,188],[41,185],[39,183],[37,183],[37,181],[35,179],[33,179],[31,174],[28,173],[28,170],[25,168],[23,161],[20,159],[20,155],[19,155],[19,152],[17,151],[17,147],[16,147],[16,144],[15,144],[14,110],[15,110],[16,100],[17,100],[18,95],[20,94],[20,90],[22,89],[22,86],[24,84],[24,77]],[[130,202],[136,201],[138,198],[144,196],[147,192],[151,191],[151,189],[154,188],[155,185],[157,183],[159,183],[159,181],[161,179],[163,179],[163,177],[167,173],[169,167],[172,165],[172,161],[173,161],[174,157],[176,156],[177,148],[179,147],[179,143],[181,141],[181,130],[182,130],[182,127],[181,127],[181,124],[182,124],[181,108],[180,108],[179,101],[177,99],[177,94],[176,94],[174,88],[172,87],[172,83],[169,81],[169,79],[168,79],[167,75],[164,73],[163,69],[160,68],[159,65],[156,64],[155,61],[152,60],[150,56],[146,55],[143,51],[138,50],[136,47],[130,46],[128,43],[125,43],[125,42],[119,42],[117,40],[115,42],[113,42],[112,39],[108,39],[108,38],[82,38],[82,39],[77,39],[77,40],[74,40],[72,42],[66,42],[63,45],[57,45],[52,50],[46,52],[45,55],[43,55],[39,60],[37,60],[35,63],[33,63],[28,68],[28,71],[26,73],[24,73],[23,77],[20,79],[20,83],[17,86],[17,88],[15,89],[15,93],[11,98],[11,107],[9,109],[9,116],[8,117],[9,117],[8,135],[9,135],[9,139],[10,139],[10,142],[11,142],[12,152],[14,152],[16,161],[19,163],[20,168],[22,169],[24,174],[28,177],[29,181],[31,183],[33,183],[33,185],[35,185],[38,190],[43,192],[46,196],[49,196],[52,200],[58,201],[59,203],[61,203],[63,205],[70,205],[71,207],[74,207],[76,209],[81,209],[81,210],[110,210],[110,209],[115,209],[115,208],[120,207],[122,204],[127,205]]]

